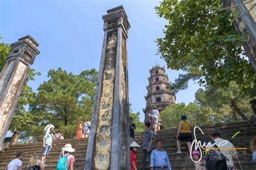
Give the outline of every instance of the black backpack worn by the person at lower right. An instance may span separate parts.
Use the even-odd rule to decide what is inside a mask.
[[[218,146],[215,144],[214,140],[211,140],[213,146],[217,148]],[[218,149],[220,152],[220,150]],[[209,154],[211,153],[211,154]],[[227,169],[227,157],[225,157],[222,153],[216,153],[215,150],[208,151],[206,155],[206,167],[208,170],[226,170]]]

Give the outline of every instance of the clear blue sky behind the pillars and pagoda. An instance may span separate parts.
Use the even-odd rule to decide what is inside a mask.
[[[79,74],[82,70],[99,68],[103,43],[103,20],[106,10],[123,5],[131,28],[127,41],[129,62],[129,100],[133,112],[144,119],[149,69],[158,63],[165,66],[173,82],[180,71],[167,69],[157,53],[157,38],[163,37],[166,20],[156,15],[159,1],[76,1],[76,0],[2,0],[0,1],[1,41],[11,44],[30,34],[39,42],[39,54],[32,68],[41,72],[29,85],[37,90],[48,80],[50,69],[62,67]],[[176,94],[177,103],[194,101],[198,84]]]

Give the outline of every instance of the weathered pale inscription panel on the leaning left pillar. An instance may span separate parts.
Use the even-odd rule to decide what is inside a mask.
[[[4,124],[7,120],[9,112],[11,110],[12,104],[14,104],[15,97],[21,84],[22,77],[25,76],[24,73],[28,69],[28,65],[25,65],[22,61],[19,61],[18,66],[14,73],[14,78],[12,79],[10,86],[7,90],[3,102],[0,104],[0,117],[3,121],[0,122],[0,129],[4,128]],[[1,134],[2,135],[2,134]]]

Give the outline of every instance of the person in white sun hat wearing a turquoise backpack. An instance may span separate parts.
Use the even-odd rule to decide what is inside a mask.
[[[62,148],[60,153],[59,160],[57,162],[56,170],[73,170],[75,157],[70,154],[70,152],[75,152],[75,149],[72,148],[71,144],[66,144]]]

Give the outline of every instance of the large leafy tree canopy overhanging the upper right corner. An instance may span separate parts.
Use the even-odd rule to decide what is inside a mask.
[[[219,0],[163,0],[156,7],[165,18],[164,38],[158,54],[168,68],[183,70],[174,92],[186,89],[189,80],[203,86],[228,87],[231,81],[244,93],[256,96],[256,79],[242,45],[247,34],[235,32],[231,11],[220,10]]]

